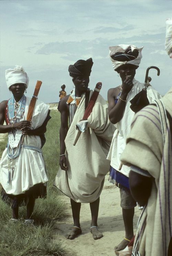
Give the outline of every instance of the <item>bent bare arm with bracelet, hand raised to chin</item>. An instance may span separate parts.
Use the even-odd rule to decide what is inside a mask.
[[[116,124],[122,119],[126,106],[125,101],[127,100],[128,93],[130,92],[132,86],[133,83],[131,79],[126,78],[125,81],[123,81],[120,98],[124,101],[118,99],[117,104],[115,104],[115,99],[120,93],[120,86],[108,90],[108,116],[112,124]]]

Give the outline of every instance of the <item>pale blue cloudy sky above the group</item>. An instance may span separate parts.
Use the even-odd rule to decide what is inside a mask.
[[[5,70],[21,65],[29,76],[26,96],[42,81],[39,99],[58,102],[61,85],[73,89],[68,66],[93,58],[90,89],[102,82],[101,95],[121,84],[112,69],[109,46],[144,46],[135,78],[144,82],[151,69],[151,85],[164,95],[172,86],[172,60],[167,55],[165,20],[172,17],[171,0],[1,0],[0,1],[0,101],[11,94]]]

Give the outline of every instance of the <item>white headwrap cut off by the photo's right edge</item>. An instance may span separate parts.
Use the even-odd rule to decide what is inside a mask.
[[[172,58],[172,18],[166,20],[165,50]]]

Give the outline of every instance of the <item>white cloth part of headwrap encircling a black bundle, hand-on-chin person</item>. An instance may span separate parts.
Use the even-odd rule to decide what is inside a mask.
[[[113,54],[115,54],[116,52],[125,52],[129,47],[131,47],[131,51],[137,49],[139,51],[139,55],[136,59],[134,60],[129,60],[129,61],[117,61],[117,60],[113,60],[111,58],[111,56]],[[110,60],[112,62],[112,66],[113,69],[116,70],[117,68],[119,68],[119,66],[123,65],[123,64],[132,64],[132,65],[136,65],[139,66],[141,58],[142,58],[142,51],[143,47],[141,48],[137,48],[135,45],[130,45],[130,44],[119,44],[116,46],[110,46],[109,47],[109,55],[110,55]]]

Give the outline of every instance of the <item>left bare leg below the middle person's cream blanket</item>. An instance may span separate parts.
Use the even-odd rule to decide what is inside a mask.
[[[80,222],[79,222],[79,215],[80,215],[80,206],[81,203],[76,203],[71,199],[71,207],[72,207],[72,216],[74,220],[74,227],[69,234],[66,234],[65,237],[67,239],[74,239],[77,235],[82,233],[82,230],[80,228]]]

